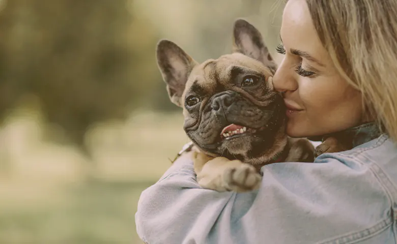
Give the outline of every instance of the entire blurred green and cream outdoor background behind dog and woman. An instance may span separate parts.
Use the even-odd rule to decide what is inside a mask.
[[[274,50],[282,7],[0,0],[0,243],[141,243],[140,192],[188,142],[156,43],[172,40],[203,62],[230,53],[243,17]]]

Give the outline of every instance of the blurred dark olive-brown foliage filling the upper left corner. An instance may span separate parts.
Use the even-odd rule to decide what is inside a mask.
[[[0,13],[0,116],[34,94],[47,121],[78,144],[93,123],[126,118],[158,77],[157,36],[128,2],[8,1]]]

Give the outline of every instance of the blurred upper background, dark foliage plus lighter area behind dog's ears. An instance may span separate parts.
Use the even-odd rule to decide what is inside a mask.
[[[124,121],[136,108],[175,110],[157,70],[159,39],[203,62],[230,52],[233,22],[245,17],[272,48],[277,3],[0,0],[0,119],[20,101],[35,102],[51,130],[84,145],[96,123]]]

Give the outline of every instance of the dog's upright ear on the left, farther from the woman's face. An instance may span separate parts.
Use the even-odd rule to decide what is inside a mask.
[[[161,40],[157,44],[157,65],[163,80],[167,84],[169,99],[183,107],[182,94],[187,78],[197,63],[177,44]]]

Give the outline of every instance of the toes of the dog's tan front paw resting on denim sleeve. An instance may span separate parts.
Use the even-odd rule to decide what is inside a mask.
[[[225,189],[235,192],[248,192],[258,189],[262,177],[257,169],[249,164],[226,168],[223,172]]]

